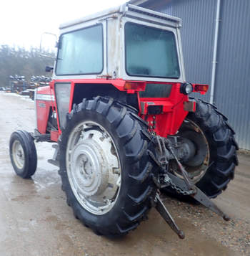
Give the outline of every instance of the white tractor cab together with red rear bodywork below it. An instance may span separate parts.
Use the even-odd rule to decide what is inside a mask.
[[[186,95],[208,90],[186,82],[180,28],[179,18],[131,4],[61,24],[51,82],[59,134],[82,95],[109,95],[156,134],[174,135],[196,107]]]

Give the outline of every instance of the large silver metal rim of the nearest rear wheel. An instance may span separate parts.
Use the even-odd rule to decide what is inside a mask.
[[[121,187],[121,164],[110,134],[98,123],[84,121],[71,131],[66,171],[77,201],[92,214],[106,214]]]

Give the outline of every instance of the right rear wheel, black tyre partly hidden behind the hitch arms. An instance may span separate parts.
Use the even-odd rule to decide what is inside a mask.
[[[237,143],[234,131],[214,105],[197,100],[196,112],[189,113],[179,129],[178,136],[194,143],[196,153],[189,161],[183,162],[186,171],[201,191],[215,198],[225,190],[238,165]],[[179,171],[170,164],[172,171]],[[173,189],[166,189],[176,194]],[[180,198],[186,196],[178,195]]]

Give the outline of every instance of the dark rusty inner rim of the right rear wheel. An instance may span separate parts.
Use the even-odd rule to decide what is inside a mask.
[[[183,136],[185,131],[191,131],[194,133],[195,136],[190,136],[189,133],[189,140],[191,140],[197,146],[197,152],[201,151],[202,148],[202,158],[200,161],[188,161],[186,163],[182,163],[189,174],[189,178],[196,184],[199,182],[202,177],[206,174],[206,171],[209,169],[209,161],[210,161],[210,151],[209,151],[209,142],[206,139],[204,132],[201,130],[199,125],[194,123],[192,120],[185,119],[184,120],[184,128],[180,129],[179,136]],[[185,136],[184,136],[185,138]],[[196,156],[194,156],[196,157]],[[171,170],[177,176],[180,176],[183,179],[178,166],[174,162],[171,162]]]

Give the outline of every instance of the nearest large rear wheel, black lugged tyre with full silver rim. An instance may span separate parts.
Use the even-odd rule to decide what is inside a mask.
[[[68,115],[59,140],[62,189],[74,215],[111,237],[136,229],[156,186],[146,125],[111,98],[84,99]]]

